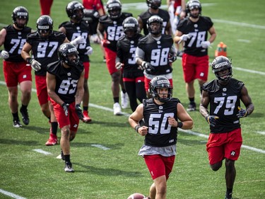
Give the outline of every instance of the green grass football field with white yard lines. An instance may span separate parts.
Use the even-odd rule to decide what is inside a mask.
[[[241,120],[244,146],[240,159],[236,161],[233,197],[262,199],[265,198],[265,3],[263,0],[201,2],[203,15],[212,18],[218,34],[213,48],[209,50],[210,61],[214,58],[218,42],[225,42],[228,57],[232,58],[234,77],[245,82],[255,105],[254,113]],[[65,12],[68,3],[65,0],[54,1],[54,30],[59,23],[68,20]],[[130,11],[134,16],[146,8],[145,1],[136,0],[134,3],[139,4],[132,4],[123,0],[122,3],[123,11]],[[0,5],[1,27],[12,22],[13,8],[25,6],[30,13],[28,25],[35,29],[35,22],[40,16],[39,1],[2,0]],[[81,123],[76,139],[71,142],[71,160],[76,171],[73,174],[64,172],[64,161],[56,158],[60,152],[59,145],[45,146],[49,123],[40,110],[35,91],[28,107],[30,125],[19,129],[13,127],[1,69],[0,198],[126,199],[136,192],[148,195],[151,176],[143,159],[137,155],[143,137],[129,127],[127,118],[130,108],[123,110],[128,113],[124,116],[113,115],[110,75],[102,62],[99,45],[93,44],[93,49],[89,78],[89,110],[93,123]],[[173,65],[174,97],[186,107],[188,100],[181,60]],[[215,76],[210,70],[209,80],[213,78]],[[199,86],[196,86],[196,103],[199,103]],[[205,146],[208,125],[199,111],[190,115],[194,119],[194,128],[179,132],[177,158],[167,183],[167,198],[224,198],[225,169],[213,172],[208,166]],[[58,135],[60,137],[59,131]],[[102,147],[97,147],[98,144]],[[49,154],[36,152],[35,149]]]

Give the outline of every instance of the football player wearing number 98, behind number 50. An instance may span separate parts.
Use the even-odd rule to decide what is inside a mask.
[[[147,27],[150,34],[139,40],[136,63],[144,69],[145,89],[148,95],[149,82],[155,76],[167,77],[173,86],[172,62],[177,59],[177,51],[171,35],[162,34],[163,19],[160,16],[151,16],[147,21]]]

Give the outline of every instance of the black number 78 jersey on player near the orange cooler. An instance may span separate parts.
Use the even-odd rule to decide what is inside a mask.
[[[177,30],[191,36],[191,38],[184,42],[184,53],[195,57],[208,55],[208,49],[201,47],[201,42],[207,40],[208,30],[210,30],[212,26],[213,22],[211,18],[207,16],[199,16],[199,20],[195,23],[189,18],[184,18],[179,21]]]

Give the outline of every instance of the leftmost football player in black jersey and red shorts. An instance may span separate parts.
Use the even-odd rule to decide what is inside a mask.
[[[18,117],[18,84],[21,91],[20,113],[23,123],[30,123],[28,104],[32,89],[31,68],[26,66],[27,63],[20,55],[27,35],[32,32],[27,26],[28,18],[27,8],[18,6],[12,13],[13,24],[0,31],[0,46],[4,45],[4,50],[0,50],[0,57],[4,59],[3,70],[8,89],[8,104],[13,115],[13,127],[22,126]]]

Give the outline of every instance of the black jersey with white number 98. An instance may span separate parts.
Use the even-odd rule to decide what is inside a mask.
[[[145,53],[143,60],[155,67],[153,72],[146,71],[147,74],[160,75],[172,72],[172,67],[170,62],[168,62],[172,45],[173,40],[171,35],[162,34],[159,40],[155,40],[149,34],[139,40],[138,47]]]

